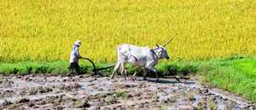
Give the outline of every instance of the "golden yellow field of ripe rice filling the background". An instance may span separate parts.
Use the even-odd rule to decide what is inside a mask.
[[[255,0],[1,0],[0,60],[97,61],[121,43],[167,47],[172,59],[256,54]]]

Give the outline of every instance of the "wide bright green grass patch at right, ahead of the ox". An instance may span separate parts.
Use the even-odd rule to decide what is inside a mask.
[[[202,83],[236,93],[256,102],[256,58],[202,63]]]

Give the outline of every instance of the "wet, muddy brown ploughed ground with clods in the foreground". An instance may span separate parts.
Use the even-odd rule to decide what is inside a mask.
[[[255,103],[195,80],[141,79],[0,76],[0,109],[256,109]]]

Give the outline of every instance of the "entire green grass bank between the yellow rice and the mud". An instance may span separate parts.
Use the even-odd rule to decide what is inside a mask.
[[[83,61],[80,65],[83,73],[92,74],[90,63]],[[108,65],[110,64],[96,63],[97,68]],[[0,63],[1,74],[66,74],[67,69],[67,62]],[[127,69],[129,74],[136,70],[131,66]],[[256,58],[240,56],[196,62],[161,62],[157,69],[161,76],[197,74],[203,84],[222,88],[256,102]],[[108,76],[112,70],[104,70],[103,75]]]

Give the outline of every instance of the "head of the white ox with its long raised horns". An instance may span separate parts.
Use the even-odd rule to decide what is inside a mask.
[[[174,38],[172,38],[172,40],[173,40],[173,39],[174,39]],[[169,58],[170,58],[169,55],[168,55],[168,52],[167,52],[167,50],[166,50],[166,46],[167,46],[169,43],[171,43],[172,40],[166,42],[166,44],[163,45],[163,46],[161,46],[161,45],[159,45],[159,44],[156,44],[156,47],[154,47],[154,51],[158,53],[158,55],[157,55],[158,58],[165,58],[165,59],[169,59]]]

